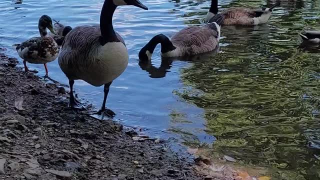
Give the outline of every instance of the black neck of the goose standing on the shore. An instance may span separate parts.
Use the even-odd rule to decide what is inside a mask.
[[[101,31],[101,45],[107,42],[119,42],[120,40],[116,37],[115,31],[112,25],[112,16],[116,8],[116,5],[112,0],[104,0],[101,14],[100,14],[100,31]]]

